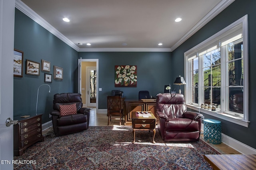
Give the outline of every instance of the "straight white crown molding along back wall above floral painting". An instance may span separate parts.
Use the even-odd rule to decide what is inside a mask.
[[[171,52],[169,48],[83,48],[78,52]]]

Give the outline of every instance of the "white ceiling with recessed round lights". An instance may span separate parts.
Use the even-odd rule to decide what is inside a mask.
[[[77,51],[173,51],[233,1],[16,0],[16,8]]]

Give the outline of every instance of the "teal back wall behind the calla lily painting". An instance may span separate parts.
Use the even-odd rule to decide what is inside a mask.
[[[78,58],[99,59],[99,109],[107,109],[106,96],[121,90],[126,99],[138,99],[140,90],[148,90],[152,97],[164,92],[171,81],[171,52],[79,52]],[[115,65],[137,65],[137,87],[115,88]],[[177,88],[176,88],[177,89]]]

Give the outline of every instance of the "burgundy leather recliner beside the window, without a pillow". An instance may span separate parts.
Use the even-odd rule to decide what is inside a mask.
[[[158,94],[156,99],[158,131],[164,141],[198,141],[202,114],[187,111],[183,94]]]

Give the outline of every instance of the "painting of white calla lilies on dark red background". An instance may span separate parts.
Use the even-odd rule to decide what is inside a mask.
[[[115,66],[115,87],[137,87],[137,66]]]

